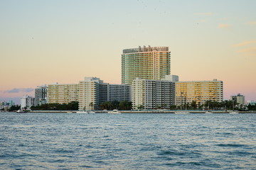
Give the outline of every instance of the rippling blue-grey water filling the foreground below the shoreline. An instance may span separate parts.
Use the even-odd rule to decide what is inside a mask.
[[[0,169],[256,169],[256,114],[0,113]]]

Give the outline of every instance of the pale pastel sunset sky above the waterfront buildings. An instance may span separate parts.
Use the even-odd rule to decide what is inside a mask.
[[[0,101],[43,84],[121,84],[122,50],[169,47],[180,81],[256,101],[255,0],[0,0]]]

